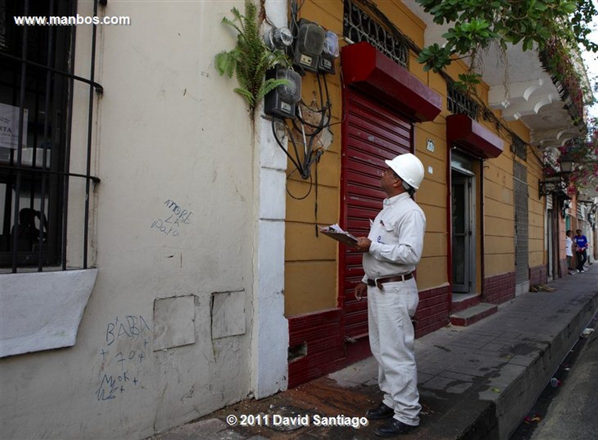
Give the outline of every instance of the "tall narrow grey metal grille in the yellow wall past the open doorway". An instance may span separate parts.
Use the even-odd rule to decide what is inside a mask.
[[[515,279],[529,279],[529,234],[527,213],[527,168],[518,162],[513,164],[513,187],[515,199]]]

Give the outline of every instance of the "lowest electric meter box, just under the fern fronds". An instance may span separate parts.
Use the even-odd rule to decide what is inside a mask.
[[[279,118],[294,118],[295,104],[301,99],[301,75],[291,69],[270,69],[266,79],[286,79],[289,84],[282,84],[271,90],[264,97],[264,113]]]

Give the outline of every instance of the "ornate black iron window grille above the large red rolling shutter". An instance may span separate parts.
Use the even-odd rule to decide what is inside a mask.
[[[354,43],[367,41],[377,50],[388,56],[405,69],[409,66],[409,47],[399,35],[398,29],[392,29],[389,23],[376,20],[368,9],[370,2],[344,0],[343,36]]]

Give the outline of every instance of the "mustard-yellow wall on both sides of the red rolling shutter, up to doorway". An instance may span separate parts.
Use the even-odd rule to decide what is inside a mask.
[[[394,23],[400,23],[401,30],[418,45],[423,45],[425,25],[417,19],[400,1],[377,2],[382,13]],[[306,0],[300,10],[300,17],[316,21],[326,29],[343,33],[343,2],[340,0]],[[345,43],[341,41],[341,45]],[[342,91],[340,66],[337,60],[336,75],[328,75],[328,90],[332,103],[332,123],[342,119]],[[439,75],[423,72],[414,54],[410,56],[411,72],[420,81],[431,85],[440,94],[446,94],[446,84]],[[307,73],[302,81],[303,100],[310,103],[318,96],[315,75]],[[334,140],[322,156],[318,167],[318,223],[337,223],[340,216],[340,151],[341,125],[332,127]],[[420,289],[441,285],[447,281],[446,270],[438,267],[447,265],[446,232],[446,125],[428,122],[416,124],[414,143],[417,155],[426,168],[426,179],[417,193],[417,202],[426,213],[428,227],[424,253],[420,263],[418,284]],[[435,152],[426,150],[426,139],[435,142]],[[432,174],[428,173],[432,167]],[[288,164],[289,174],[292,164]],[[312,170],[312,174],[313,174]],[[315,176],[314,176],[315,178]],[[292,195],[300,197],[309,191],[309,181],[293,173],[287,180]],[[381,201],[382,202],[382,201]],[[286,199],[286,247],[285,247],[285,314],[300,315],[337,306],[338,296],[338,245],[326,236],[315,235],[315,187],[302,200],[287,196]],[[427,270],[429,268],[430,270]]]

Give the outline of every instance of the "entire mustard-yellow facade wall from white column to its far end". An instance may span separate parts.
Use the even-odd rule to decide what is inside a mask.
[[[402,32],[419,47],[423,47],[425,24],[414,16],[400,0],[376,2],[380,11],[396,24]],[[306,0],[300,10],[300,17],[316,21],[326,29],[340,36],[343,46],[343,2],[341,0]],[[328,90],[332,102],[332,126],[334,140],[328,152],[322,156],[318,168],[318,223],[332,224],[340,216],[340,169],[341,169],[341,125],[342,89],[340,84],[340,60],[336,61],[337,73],[328,75]],[[424,72],[417,63],[416,56],[410,53],[409,70],[432,90],[443,97],[443,111],[432,122],[414,125],[414,146],[416,155],[422,159],[425,179],[416,193],[416,201],[426,213],[427,225],[422,261],[418,266],[417,284],[420,290],[438,287],[447,282],[449,259],[447,231],[447,110],[446,81],[438,74]],[[448,67],[447,72],[457,78],[465,71],[465,65],[457,62]],[[307,73],[303,77],[303,99],[307,103],[318,96],[315,75]],[[489,87],[481,84],[478,95],[487,103]],[[317,101],[317,100],[316,100]],[[313,101],[313,102],[316,102]],[[500,112],[495,112],[500,116]],[[496,133],[492,122],[479,121]],[[524,141],[529,141],[529,131],[520,122],[509,122],[508,127]],[[477,245],[481,249],[484,239],[485,276],[490,277],[514,269],[514,205],[513,205],[513,164],[511,138],[505,131],[498,133],[504,140],[504,153],[496,159],[483,162],[484,176],[484,232],[481,237],[480,210],[477,209]],[[434,152],[426,149],[426,141],[434,141]],[[544,205],[537,198],[538,180],[541,165],[538,158],[528,149],[527,162],[529,183],[529,236],[530,266],[544,262]],[[480,193],[481,165],[476,164],[476,192]],[[431,170],[430,170],[431,168]],[[288,173],[292,170],[289,162]],[[429,171],[432,171],[431,173]],[[291,174],[287,181],[289,191],[301,196],[309,190],[309,181],[304,181],[298,173]],[[287,197],[286,205],[286,264],[285,264],[285,310],[286,316],[315,312],[337,306],[338,296],[338,246],[335,241],[315,235],[315,187],[303,200]],[[477,286],[481,287],[481,252],[478,251]]]

